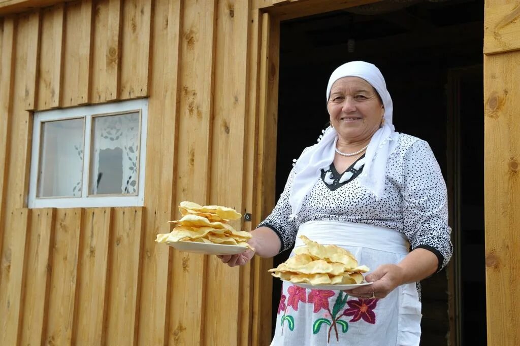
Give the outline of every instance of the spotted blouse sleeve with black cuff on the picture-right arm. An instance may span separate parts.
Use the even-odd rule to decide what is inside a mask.
[[[415,142],[405,153],[403,166],[403,217],[412,249],[432,251],[438,258],[437,271],[451,258],[446,183],[427,142]]]

